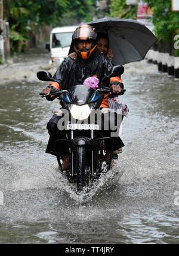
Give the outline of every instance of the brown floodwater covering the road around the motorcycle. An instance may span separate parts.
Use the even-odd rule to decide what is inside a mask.
[[[47,66],[34,55],[0,69],[0,243],[179,243],[179,82],[146,61],[125,65],[125,147],[83,201],[45,154],[58,107],[39,97]]]

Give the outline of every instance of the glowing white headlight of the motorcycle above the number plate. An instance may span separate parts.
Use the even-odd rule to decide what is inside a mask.
[[[77,106],[77,105],[71,105],[70,112],[73,116],[73,118],[78,120],[84,120],[87,119],[88,116],[90,116],[92,108],[86,105]]]

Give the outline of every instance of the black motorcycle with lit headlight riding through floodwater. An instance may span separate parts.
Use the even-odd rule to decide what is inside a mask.
[[[69,113],[69,121],[65,127],[67,138],[56,140],[54,150],[60,171],[67,176],[70,183],[76,183],[78,191],[82,191],[85,186],[98,179],[104,171],[109,171],[112,167],[112,160],[118,158],[118,155],[110,153],[109,163],[105,164],[105,141],[110,144],[112,152],[113,140],[111,137],[103,137],[98,120],[91,121],[90,114],[92,110],[100,111],[104,94],[112,92],[112,89],[106,86],[109,85],[110,77],[119,76],[123,72],[123,67],[113,67],[112,73],[101,80],[101,86],[96,90],[84,85],[76,85],[72,86],[69,91],[55,91],[48,95],[55,94],[63,109]],[[37,77],[42,81],[57,82],[48,71],[39,71]],[[47,96],[40,95],[41,97]],[[103,115],[103,122],[105,122],[105,114]],[[80,124],[79,121],[81,121]],[[67,144],[70,154],[70,168],[67,171],[64,171],[61,165],[64,144]]]

